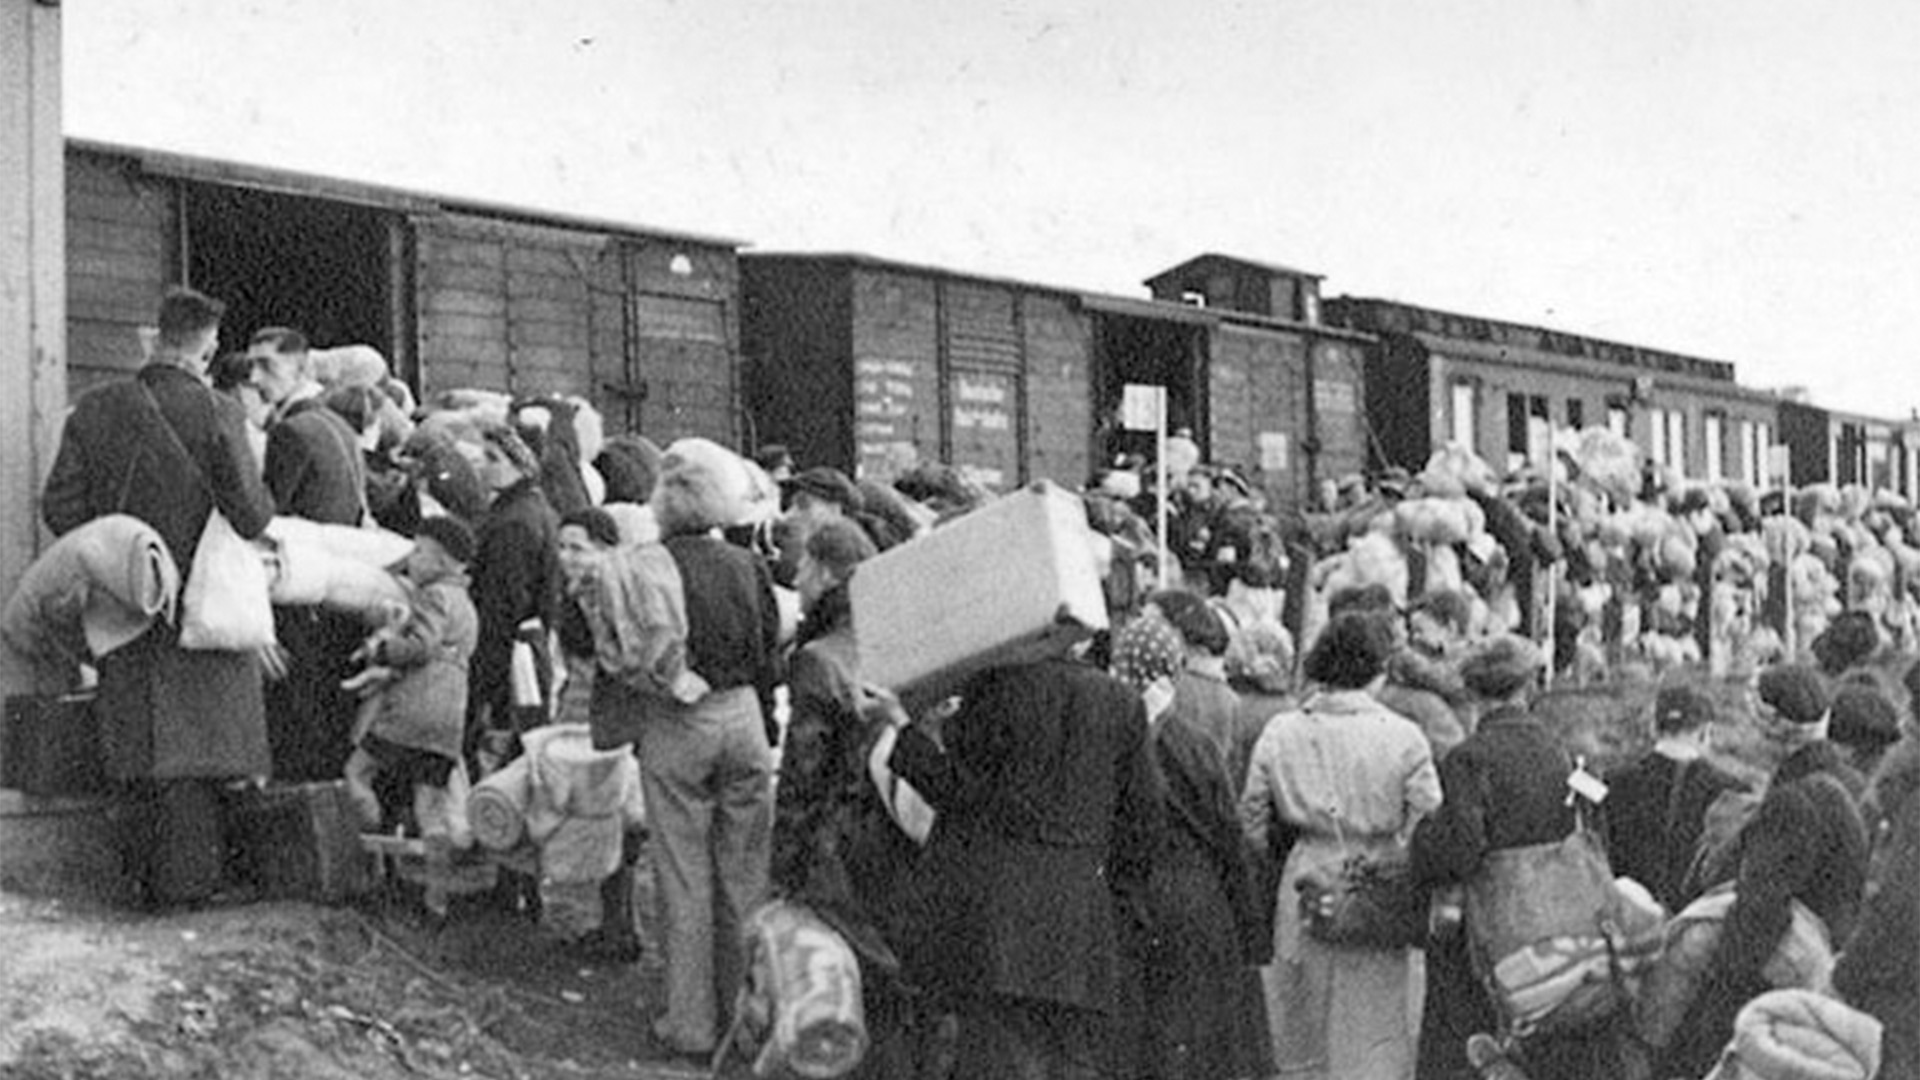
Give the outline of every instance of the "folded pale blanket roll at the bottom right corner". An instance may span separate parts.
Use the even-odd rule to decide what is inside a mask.
[[[1880,1020],[1832,997],[1768,990],[1740,1011],[1716,1076],[1870,1080],[1880,1072]]]

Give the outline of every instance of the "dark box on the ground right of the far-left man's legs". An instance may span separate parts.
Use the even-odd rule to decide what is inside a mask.
[[[340,903],[374,884],[378,861],[361,846],[346,780],[269,784],[240,799],[234,824],[267,899]]]

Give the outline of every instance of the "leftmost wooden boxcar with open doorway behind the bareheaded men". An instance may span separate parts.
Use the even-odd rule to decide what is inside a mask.
[[[169,284],[371,344],[432,394],[582,394],[607,427],[739,438],[732,240],[148,150],[67,144],[71,390],[140,363]]]

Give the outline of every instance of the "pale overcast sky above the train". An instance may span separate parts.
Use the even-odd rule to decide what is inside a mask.
[[[67,133],[1092,290],[1219,250],[1920,405],[1912,0],[69,0]]]

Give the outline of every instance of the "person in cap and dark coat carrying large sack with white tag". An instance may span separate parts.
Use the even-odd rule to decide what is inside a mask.
[[[1428,886],[1473,880],[1490,851],[1551,844],[1574,830],[1567,799],[1572,763],[1528,711],[1546,659],[1528,640],[1494,638],[1461,663],[1461,680],[1482,703],[1467,742],[1440,761],[1440,809],[1413,830],[1413,876]],[[1500,1030],[1500,1015],[1469,959],[1467,934],[1453,928],[1427,945],[1427,1005],[1417,1080],[1478,1080],[1467,1040]],[[1534,1080],[1617,1080],[1620,1036],[1532,1038],[1523,1068]]]

